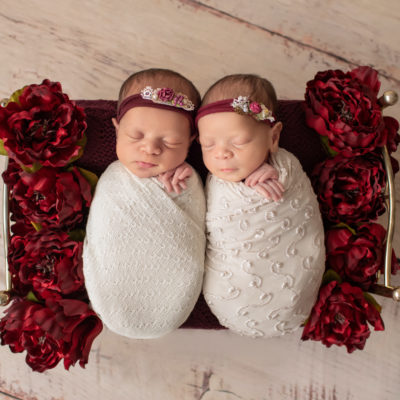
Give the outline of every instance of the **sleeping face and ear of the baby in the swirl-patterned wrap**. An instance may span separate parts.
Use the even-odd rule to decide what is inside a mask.
[[[278,148],[282,124],[267,123],[233,112],[209,114],[198,122],[204,164],[215,176],[239,182]]]

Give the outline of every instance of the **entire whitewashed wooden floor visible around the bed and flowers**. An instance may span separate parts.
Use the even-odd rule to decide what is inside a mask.
[[[228,73],[258,73],[280,98],[300,99],[319,70],[371,65],[382,91],[400,93],[399,35],[398,0],[1,0],[0,98],[50,78],[73,99],[115,99],[130,73],[152,66],[202,92]],[[400,106],[386,114],[399,119]],[[385,332],[351,355],[302,343],[300,332],[257,341],[178,330],[135,341],[105,331],[85,370],[38,374],[1,347],[0,399],[397,400],[400,305],[379,300]]]

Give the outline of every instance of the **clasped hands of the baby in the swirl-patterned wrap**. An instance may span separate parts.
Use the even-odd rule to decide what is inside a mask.
[[[252,172],[244,183],[254,188],[265,198],[278,201],[282,198],[282,194],[285,191],[278,178],[278,171],[273,166],[265,163]]]

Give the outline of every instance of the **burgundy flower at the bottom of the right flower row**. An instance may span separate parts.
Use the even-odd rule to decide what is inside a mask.
[[[331,281],[320,289],[302,340],[320,340],[327,347],[346,346],[351,353],[364,348],[371,333],[368,322],[376,331],[384,330],[379,312],[365,300],[359,287]]]

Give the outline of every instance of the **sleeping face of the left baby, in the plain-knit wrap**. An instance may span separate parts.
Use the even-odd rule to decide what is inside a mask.
[[[192,141],[185,116],[158,108],[135,107],[119,124],[113,122],[118,159],[136,176],[157,176],[185,161]]]

